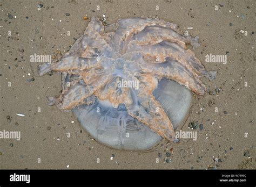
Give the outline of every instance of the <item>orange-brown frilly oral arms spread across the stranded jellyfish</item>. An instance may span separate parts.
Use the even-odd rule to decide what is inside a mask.
[[[115,32],[104,33],[102,23],[92,17],[70,52],[61,61],[42,66],[39,72],[42,75],[55,70],[78,75],[58,98],[60,109],[72,109],[92,95],[109,100],[113,107],[124,103],[130,116],[172,141],[175,134],[171,120],[152,92],[165,77],[204,95],[206,88],[199,80],[204,66],[185,46],[197,45],[197,41],[198,38],[181,35],[177,25],[164,20],[123,19],[118,21]],[[120,59],[124,60],[123,68],[115,66]],[[118,76],[137,78],[139,89],[117,88]],[[85,84],[79,83],[81,79]]]

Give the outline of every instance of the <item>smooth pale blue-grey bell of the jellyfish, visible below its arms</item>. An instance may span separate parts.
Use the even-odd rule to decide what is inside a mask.
[[[63,80],[65,88],[69,80],[66,76]],[[182,126],[192,102],[191,92],[184,86],[163,78],[153,95],[163,106],[174,130]],[[93,139],[114,149],[149,150],[163,140],[145,124],[132,118],[122,103],[115,108],[107,100],[96,98],[92,103],[74,107],[72,112]],[[174,139],[174,142],[178,140]]]

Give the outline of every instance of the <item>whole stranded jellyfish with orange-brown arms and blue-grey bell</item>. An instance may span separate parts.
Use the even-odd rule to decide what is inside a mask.
[[[191,91],[204,95],[200,80],[215,78],[187,44],[177,25],[160,19],[127,18],[114,32],[92,17],[83,35],[39,75],[62,73],[62,94],[49,105],[72,110],[98,142],[123,150],[147,150],[162,139],[177,142],[175,130],[187,116]]]

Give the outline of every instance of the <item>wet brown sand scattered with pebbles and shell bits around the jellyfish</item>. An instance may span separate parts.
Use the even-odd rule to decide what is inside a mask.
[[[6,0],[0,1],[0,10],[0,131],[21,132],[20,141],[0,139],[0,169],[256,168],[255,1]],[[201,46],[192,50],[207,70],[218,74],[212,82],[203,78],[210,94],[195,96],[182,127],[191,131],[190,122],[203,124],[203,130],[192,130],[196,141],[181,139],[150,152],[115,150],[92,140],[72,112],[47,105],[46,96],[62,91],[60,74],[39,77],[41,63],[30,62],[30,55],[64,54],[90,17],[103,15],[107,24],[158,17],[199,36]],[[207,54],[227,55],[227,63],[205,62]]]

